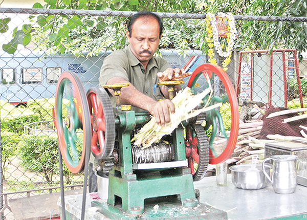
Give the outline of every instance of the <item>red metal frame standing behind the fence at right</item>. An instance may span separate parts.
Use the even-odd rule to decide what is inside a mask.
[[[251,54],[251,76],[253,73],[253,54],[255,53],[270,53],[270,71],[269,71],[269,103],[272,104],[272,76],[273,76],[273,54],[275,52],[282,52],[282,71],[283,71],[283,90],[284,90],[284,107],[287,107],[287,75],[286,75],[286,57],[284,53],[286,52],[293,52],[294,57],[294,68],[296,72],[296,78],[297,78],[297,84],[298,84],[298,91],[299,91],[299,100],[300,105],[303,107],[303,96],[302,96],[302,90],[301,90],[301,83],[299,79],[299,60],[297,58],[296,49],[278,49],[278,50],[256,50],[256,51],[241,51],[239,52],[239,67],[238,67],[238,75],[237,75],[237,82],[236,82],[236,96],[239,97],[239,91],[240,91],[240,74],[241,74],[241,64],[242,64],[242,55],[243,54]],[[253,77],[251,79],[251,90],[252,90],[252,82]],[[252,93],[251,93],[252,94]],[[252,98],[252,95],[251,95]]]

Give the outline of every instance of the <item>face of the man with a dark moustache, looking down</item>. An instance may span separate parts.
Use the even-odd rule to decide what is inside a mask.
[[[144,67],[159,46],[159,34],[158,21],[153,17],[139,17],[131,28],[131,37],[126,32],[131,51]]]

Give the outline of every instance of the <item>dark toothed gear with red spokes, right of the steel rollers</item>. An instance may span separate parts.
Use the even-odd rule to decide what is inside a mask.
[[[200,124],[185,126],[186,158],[191,169],[193,181],[200,181],[207,173],[209,164],[209,144],[205,130]]]

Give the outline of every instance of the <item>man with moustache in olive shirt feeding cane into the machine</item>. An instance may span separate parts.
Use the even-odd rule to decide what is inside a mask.
[[[170,112],[174,113],[175,107],[168,99],[167,87],[158,86],[158,81],[182,80],[191,75],[179,68],[169,68],[161,57],[153,57],[162,31],[163,24],[157,15],[135,14],[126,31],[129,46],[104,59],[99,77],[100,85],[129,83],[121,89],[120,102],[147,110],[161,125],[170,122]],[[176,90],[180,89],[176,86]],[[113,94],[112,90],[109,92]],[[160,100],[163,97],[166,99]]]

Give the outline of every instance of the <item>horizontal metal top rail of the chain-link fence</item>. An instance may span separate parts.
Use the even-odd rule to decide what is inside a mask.
[[[54,15],[92,15],[109,17],[131,17],[137,12],[132,11],[99,11],[99,10],[71,10],[71,9],[41,9],[41,8],[0,8],[0,13],[18,14],[54,14]],[[204,14],[193,13],[162,13],[156,12],[161,18],[184,18],[184,19],[205,19]],[[234,15],[235,20],[256,20],[256,21],[298,21],[307,22],[307,17],[281,17],[281,16],[249,16]]]

